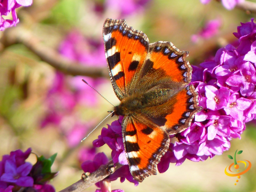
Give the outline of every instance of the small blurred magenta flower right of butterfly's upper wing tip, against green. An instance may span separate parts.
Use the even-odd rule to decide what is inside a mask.
[[[218,34],[220,27],[221,27],[220,19],[210,20],[205,24],[205,26],[197,34],[192,35],[191,41],[197,42],[199,41],[199,39],[209,39],[214,35]]]

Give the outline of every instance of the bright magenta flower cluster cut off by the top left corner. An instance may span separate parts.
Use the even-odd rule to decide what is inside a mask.
[[[0,30],[3,31],[7,27],[16,26],[19,22],[15,9],[20,6],[30,6],[33,0],[2,0],[0,2]],[[9,15],[12,12],[12,20],[4,19],[2,15]]]

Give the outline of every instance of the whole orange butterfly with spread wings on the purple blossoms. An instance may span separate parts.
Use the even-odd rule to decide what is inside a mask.
[[[114,92],[121,101],[113,113],[124,116],[122,135],[133,178],[157,174],[170,137],[187,129],[198,106],[192,67],[171,42],[149,43],[125,19],[106,19],[103,41]]]

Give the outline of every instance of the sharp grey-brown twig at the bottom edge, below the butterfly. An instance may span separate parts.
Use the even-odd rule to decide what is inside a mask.
[[[80,192],[84,189],[90,187],[91,185],[95,184],[96,182],[99,182],[103,180],[104,178],[108,177],[110,174],[113,173],[114,170],[117,170],[120,168],[120,163],[117,163],[116,165],[113,165],[113,161],[108,162],[108,164],[99,167],[98,170],[91,173],[89,177],[85,179],[80,179],[79,181],[75,182],[74,184],[70,185],[69,187],[59,191],[59,192]],[[114,170],[113,170],[114,168]]]

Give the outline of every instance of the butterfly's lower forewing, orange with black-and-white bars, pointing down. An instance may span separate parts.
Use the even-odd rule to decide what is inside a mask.
[[[163,129],[125,116],[122,122],[125,154],[135,180],[157,174],[156,166],[168,150],[170,138]]]

